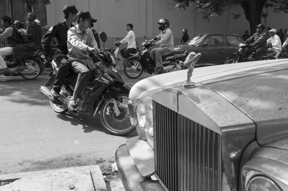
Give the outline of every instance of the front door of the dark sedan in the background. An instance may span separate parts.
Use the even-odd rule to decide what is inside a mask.
[[[199,45],[202,63],[220,63],[225,57],[223,35],[208,35]]]

